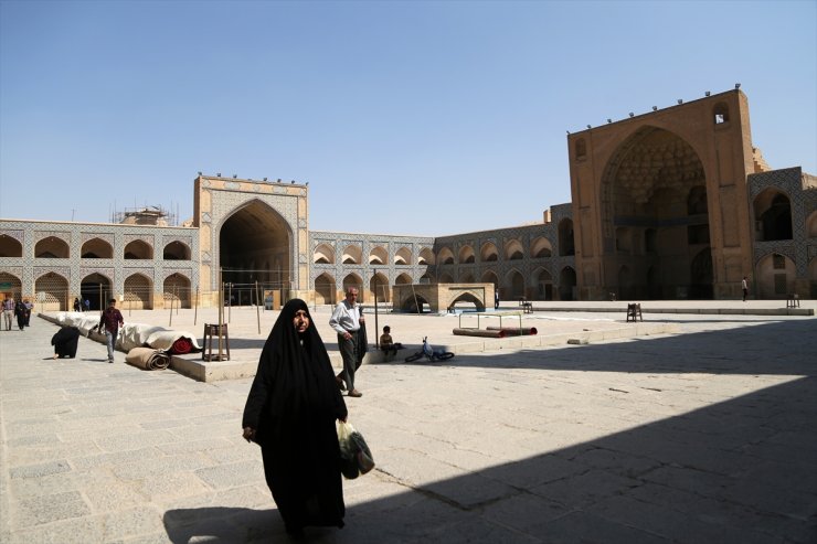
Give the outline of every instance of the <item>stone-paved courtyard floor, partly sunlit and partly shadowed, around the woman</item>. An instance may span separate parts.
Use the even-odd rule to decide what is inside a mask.
[[[257,350],[273,317],[244,317]],[[378,467],[344,481],[347,526],[307,540],[817,542],[817,319],[645,317],[679,332],[365,365],[347,404]],[[396,340],[450,330],[414,319]],[[55,330],[0,332],[0,541],[287,542],[241,438],[250,378],[110,365],[85,338],[53,361]]]

